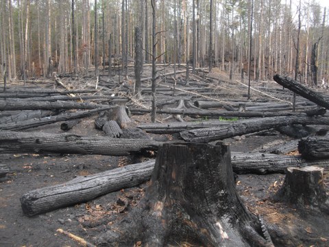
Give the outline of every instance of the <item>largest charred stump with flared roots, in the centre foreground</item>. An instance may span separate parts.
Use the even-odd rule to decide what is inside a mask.
[[[145,197],[112,230],[97,246],[273,246],[236,193],[223,144],[164,144]]]

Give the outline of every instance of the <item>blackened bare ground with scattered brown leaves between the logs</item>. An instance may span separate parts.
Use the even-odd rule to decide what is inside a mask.
[[[94,117],[85,118],[69,132],[103,135],[94,127]],[[136,123],[149,123],[149,115],[132,116]],[[29,131],[60,133],[60,122]],[[226,139],[232,152],[252,152],[276,140],[289,139],[279,132]],[[104,172],[131,163],[131,157],[79,154],[0,154],[0,163],[10,167],[7,179],[0,183],[0,246],[81,246],[68,233],[96,243],[97,236],[120,220],[143,197],[147,183],[108,193],[85,203],[49,213],[27,217],[20,198],[33,189],[64,183],[76,176]],[[276,246],[329,246],[329,215],[315,209],[295,209],[273,202],[284,174],[239,175],[236,189],[252,213],[263,216],[269,228],[278,231]],[[328,182],[328,181],[327,181]],[[327,187],[328,189],[328,187]],[[328,189],[329,190],[329,189]]]

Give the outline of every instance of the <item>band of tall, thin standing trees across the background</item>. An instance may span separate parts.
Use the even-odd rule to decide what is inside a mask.
[[[279,73],[297,75],[305,84],[328,82],[328,12],[314,0],[154,3],[157,62],[188,62],[193,69],[216,67],[236,75],[250,71],[254,80]],[[141,31],[144,62],[153,56],[151,0],[0,4],[1,78],[4,73],[13,80],[98,70],[108,64],[109,54],[120,57],[126,68],[135,54],[135,27]]]

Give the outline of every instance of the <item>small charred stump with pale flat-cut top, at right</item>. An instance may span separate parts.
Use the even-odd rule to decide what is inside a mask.
[[[324,185],[324,168],[289,167],[284,183],[274,199],[289,202],[298,207],[318,207],[329,213],[329,201]]]

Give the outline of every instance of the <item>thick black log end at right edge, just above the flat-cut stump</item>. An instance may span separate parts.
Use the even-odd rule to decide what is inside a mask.
[[[298,143],[298,151],[307,160],[329,158],[329,136],[303,138]]]

